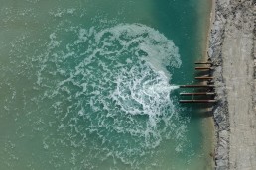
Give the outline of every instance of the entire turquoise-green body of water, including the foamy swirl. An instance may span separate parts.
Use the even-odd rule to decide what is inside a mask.
[[[211,169],[209,1],[0,2],[0,169]]]

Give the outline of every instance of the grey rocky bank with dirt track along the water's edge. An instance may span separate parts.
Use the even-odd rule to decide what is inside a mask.
[[[253,1],[212,0],[208,56],[218,104],[213,109],[215,169],[256,169]]]

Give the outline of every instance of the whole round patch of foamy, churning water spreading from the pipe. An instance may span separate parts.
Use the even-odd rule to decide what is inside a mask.
[[[134,165],[163,139],[184,139],[185,124],[170,98],[177,87],[166,69],[179,68],[181,60],[158,31],[141,24],[58,29],[39,62],[37,84],[47,87],[40,100],[52,105],[42,111],[54,113],[49,122],[60,137],[46,136],[45,145],[80,148],[90,153],[88,162],[113,157]]]

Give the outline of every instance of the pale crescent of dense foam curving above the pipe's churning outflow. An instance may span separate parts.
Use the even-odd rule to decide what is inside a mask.
[[[109,39],[111,41],[118,40],[123,45],[123,49],[128,49],[131,44],[137,43],[138,45],[133,47],[136,55],[141,57],[138,52],[145,52],[147,56],[143,56],[143,59],[147,60],[156,71],[163,71],[167,76],[170,75],[166,66],[179,68],[181,65],[179,51],[174,42],[145,25],[120,24],[105,29],[95,35],[96,42],[104,42],[105,35],[108,35],[108,41]]]

